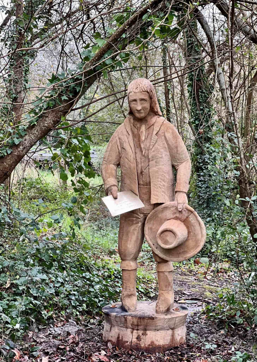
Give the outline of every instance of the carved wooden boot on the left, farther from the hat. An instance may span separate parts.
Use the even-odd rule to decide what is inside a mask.
[[[122,309],[126,312],[134,312],[137,309],[137,269],[122,269]]]

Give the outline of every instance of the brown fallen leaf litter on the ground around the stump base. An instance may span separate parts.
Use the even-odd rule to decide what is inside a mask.
[[[207,273],[206,270],[206,266],[196,264],[193,269],[185,265],[174,272],[175,301],[189,309],[185,344],[155,354],[127,351],[102,341],[103,316],[66,317],[39,331],[29,331],[23,343],[12,348],[11,361],[218,362],[231,361],[236,351],[252,354],[257,340],[256,328],[247,330],[241,326],[226,330],[202,312],[207,303],[217,301],[218,290],[232,285],[236,274],[231,269],[223,272],[222,267],[217,271],[217,266],[209,268]],[[157,293],[153,297],[156,299]],[[4,341],[2,345],[0,342],[0,350],[6,355],[9,351],[2,346],[5,346]],[[35,346],[38,349],[31,354]]]

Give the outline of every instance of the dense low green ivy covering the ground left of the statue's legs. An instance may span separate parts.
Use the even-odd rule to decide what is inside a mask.
[[[119,295],[120,270],[96,263],[86,244],[64,232],[41,241],[2,244],[0,313],[10,338],[31,321],[46,323],[56,313],[92,315]]]

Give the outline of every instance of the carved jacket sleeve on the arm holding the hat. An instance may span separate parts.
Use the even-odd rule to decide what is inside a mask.
[[[189,178],[191,173],[191,162],[187,148],[185,147],[179,132],[177,132],[176,128],[170,123],[165,130],[165,138],[172,165],[177,170],[175,191],[187,192],[189,189]]]

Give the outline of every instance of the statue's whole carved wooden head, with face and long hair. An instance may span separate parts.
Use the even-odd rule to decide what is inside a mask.
[[[140,119],[145,118],[149,111],[162,115],[154,86],[145,78],[137,78],[129,84],[128,104],[129,114]]]

